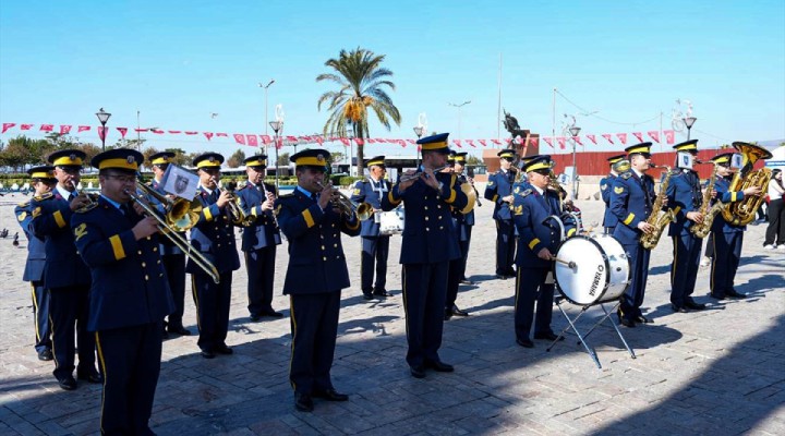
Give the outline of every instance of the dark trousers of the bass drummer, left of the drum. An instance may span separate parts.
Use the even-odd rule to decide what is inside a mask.
[[[547,268],[518,267],[516,275],[516,339],[528,340],[534,322],[534,334],[551,332],[554,284],[545,283]],[[536,302],[536,319],[534,317]]]

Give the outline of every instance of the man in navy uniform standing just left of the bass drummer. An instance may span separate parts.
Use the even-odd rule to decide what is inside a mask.
[[[499,157],[502,168],[488,177],[484,197],[495,204],[493,218],[496,220],[496,277],[508,279],[515,277],[512,261],[516,238],[510,206],[515,199],[512,184],[516,175],[510,167],[515,161],[516,153],[512,149],[503,149],[496,155]]]

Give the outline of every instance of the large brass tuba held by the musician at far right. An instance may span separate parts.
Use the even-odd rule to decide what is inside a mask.
[[[742,158],[742,165],[739,171],[734,175],[730,181],[728,191],[744,191],[747,187],[758,186],[761,189],[761,195],[745,196],[740,202],[734,202],[727,204],[723,210],[723,218],[734,226],[746,226],[754,220],[758,208],[763,203],[763,197],[769,189],[769,181],[771,180],[771,169],[761,168],[753,170],[752,167],[758,159],[770,159],[772,154],[769,150],[748,143],[735,142],[733,143]]]

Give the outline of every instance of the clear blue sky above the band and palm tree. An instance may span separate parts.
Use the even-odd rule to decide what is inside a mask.
[[[257,83],[275,78],[269,118],[281,104],[286,134],[312,134],[327,118],[316,100],[334,89],[315,77],[355,47],[386,55],[403,118],[391,132],[372,123],[372,137],[413,137],[421,112],[430,131],[458,137],[448,102],[466,100],[460,136],[496,137],[502,56],[503,107],[542,135],[551,135],[557,88],[597,111],[581,116],[557,96],[557,134],[564,113],[577,116],[582,134],[659,130],[661,112],[669,129],[680,98],[692,102],[692,137],[703,147],[785,138],[782,1],[3,1],[0,121],[97,125],[104,107],[110,128],[135,128],[140,111],[143,128],[263,134]],[[112,129],[109,142],[118,136]],[[80,137],[99,143],[94,132]],[[146,137],[158,148],[238,148]],[[599,142],[587,149],[623,148]]]

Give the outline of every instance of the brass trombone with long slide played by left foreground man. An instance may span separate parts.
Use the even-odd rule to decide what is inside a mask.
[[[143,192],[152,192],[153,191],[144,184],[140,184],[140,186],[144,186],[142,189]],[[172,205],[172,207],[167,211],[166,219],[165,219],[165,218],[161,218],[160,216],[158,216],[156,210],[153,207],[150,207],[150,205],[148,205],[147,202],[145,202],[138,193],[131,192],[130,190],[124,190],[124,192],[131,197],[131,199],[133,199],[140,206],[142,206],[142,208],[145,210],[145,214],[148,217],[153,217],[153,218],[155,218],[156,221],[158,221],[158,230],[160,230],[160,233],[162,235],[167,237],[169,239],[169,241],[171,241],[174,245],[177,245],[178,249],[182,250],[182,252],[185,253],[186,256],[190,256],[191,259],[193,259],[193,262],[196,264],[196,266],[202,268],[203,271],[207,272],[207,275],[210,276],[213,281],[216,282],[216,284],[218,282],[220,282],[220,275],[218,274],[218,269],[216,269],[215,265],[213,265],[198,251],[192,251],[191,244],[185,240],[185,238],[183,238],[180,233],[178,233],[178,231],[185,231],[196,225],[196,221],[198,219],[198,210],[194,211],[194,210],[188,209],[183,213],[182,203],[178,204],[178,202],[173,202],[167,197],[161,196],[158,193],[152,194],[156,198],[159,198],[159,196],[165,198],[167,202],[167,203],[165,203],[167,205],[167,208],[169,208],[169,204]],[[189,206],[191,204],[191,202],[189,202],[188,199],[183,199],[183,202],[189,203]],[[177,208],[174,207],[176,204],[178,204]],[[177,217],[174,214],[176,210],[178,213],[182,213],[183,215],[181,217]],[[183,227],[178,228],[177,226],[170,226],[168,223],[169,221],[184,222],[184,221],[182,221],[182,219],[185,219],[185,217],[188,217],[190,219],[194,215],[197,217],[197,219],[191,219],[190,226],[188,226],[186,228],[183,228]]]

